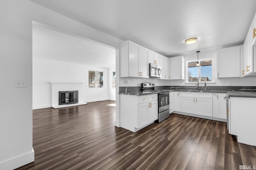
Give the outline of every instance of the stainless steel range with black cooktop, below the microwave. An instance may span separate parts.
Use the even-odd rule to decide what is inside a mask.
[[[143,92],[158,92],[158,120],[156,122],[160,123],[164,119],[170,117],[169,111],[169,94],[168,90],[155,90],[154,83],[142,83],[141,91]]]

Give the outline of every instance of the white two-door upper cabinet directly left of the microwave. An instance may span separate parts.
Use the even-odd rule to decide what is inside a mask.
[[[149,50],[132,41],[120,44],[120,77],[148,78]]]

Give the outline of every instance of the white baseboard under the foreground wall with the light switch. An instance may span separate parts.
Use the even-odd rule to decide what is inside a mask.
[[[0,162],[0,169],[13,170],[21,166],[24,166],[26,164],[29,164],[31,162],[34,162],[34,160],[35,160],[35,153],[34,153],[34,149],[32,148],[31,152],[28,152],[20,156],[16,156],[4,162]]]

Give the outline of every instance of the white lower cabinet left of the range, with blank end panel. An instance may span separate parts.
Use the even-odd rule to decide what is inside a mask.
[[[158,119],[158,96],[120,94],[120,126],[136,132]]]

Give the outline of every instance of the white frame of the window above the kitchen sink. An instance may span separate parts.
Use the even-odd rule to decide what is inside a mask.
[[[212,81],[206,81],[206,83],[215,83],[214,82],[214,58],[198,59],[198,62],[200,63],[201,61],[207,61],[207,60],[212,61]],[[197,60],[186,61],[186,83],[188,83],[188,84],[195,83],[195,82],[188,82],[188,63],[194,62],[194,61],[197,61]],[[199,66],[199,67],[201,67],[201,66]],[[200,76],[201,76],[201,69],[198,69],[198,77],[200,77]],[[204,81],[201,81],[201,78],[200,78],[199,83],[204,83]]]

